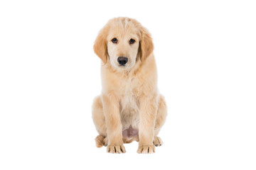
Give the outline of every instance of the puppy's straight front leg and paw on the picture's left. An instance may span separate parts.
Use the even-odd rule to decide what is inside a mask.
[[[102,95],[102,103],[107,126],[107,152],[124,153],[122,141],[122,123],[119,113],[119,101],[114,94]]]

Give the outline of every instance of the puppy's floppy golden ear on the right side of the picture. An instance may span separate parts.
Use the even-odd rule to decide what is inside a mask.
[[[149,31],[146,30],[146,28],[141,29],[141,36],[142,38],[139,42],[139,45],[141,50],[141,61],[143,62],[144,60],[146,60],[146,57],[149,57],[149,55],[151,55],[151,53],[153,52],[154,45],[151,35]]]

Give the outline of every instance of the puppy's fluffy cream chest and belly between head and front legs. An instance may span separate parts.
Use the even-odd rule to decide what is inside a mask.
[[[133,72],[117,72],[108,64],[102,67],[102,93],[117,99],[123,135],[132,136],[139,130],[139,100],[157,93],[154,57],[135,67]]]

